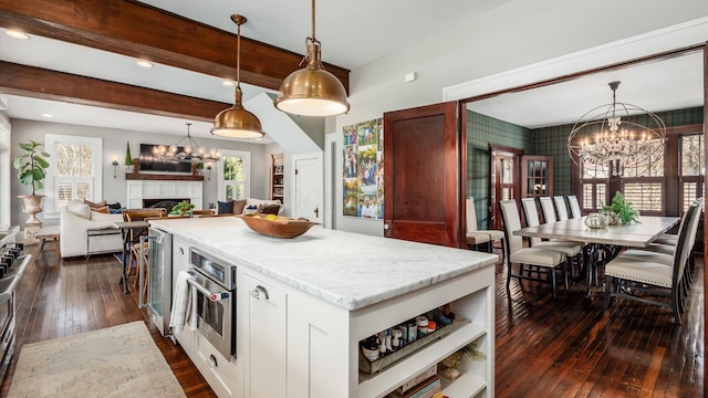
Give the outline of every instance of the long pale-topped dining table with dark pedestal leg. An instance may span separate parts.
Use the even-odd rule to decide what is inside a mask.
[[[601,252],[610,253],[612,258],[622,248],[646,248],[680,221],[679,217],[642,216],[638,221],[628,224],[618,223],[605,228],[590,228],[585,226],[585,218],[586,216],[525,227],[513,231],[513,234],[525,238],[573,241],[587,248],[589,255],[585,258],[584,264],[585,277],[587,279],[586,296],[591,295],[592,275],[596,275]],[[597,282],[596,276],[595,282]]]

